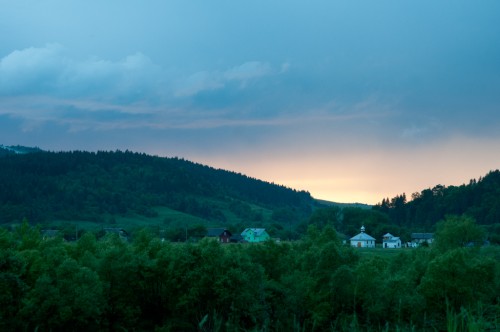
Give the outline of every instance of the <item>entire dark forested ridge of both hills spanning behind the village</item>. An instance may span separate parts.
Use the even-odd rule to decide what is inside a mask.
[[[340,222],[356,215],[356,225],[350,225],[355,229],[388,224],[396,227],[393,232],[431,232],[447,215],[465,214],[499,234],[500,243],[498,170],[461,186],[436,185],[409,201],[402,194],[370,206],[314,199],[306,191],[176,157],[0,146],[0,224],[23,218],[103,223],[131,215],[185,223],[180,214],[206,226],[270,227],[289,238],[292,232],[304,234],[313,211],[322,207],[343,210]]]

